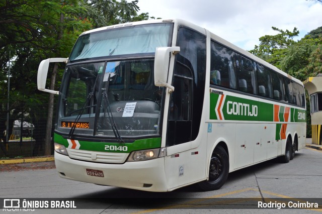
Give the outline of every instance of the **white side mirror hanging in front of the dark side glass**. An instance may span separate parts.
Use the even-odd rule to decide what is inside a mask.
[[[177,54],[180,52],[180,47],[157,47],[154,58],[154,84],[155,86],[166,86],[170,92],[175,90],[175,87],[168,84],[169,72],[169,54]]]

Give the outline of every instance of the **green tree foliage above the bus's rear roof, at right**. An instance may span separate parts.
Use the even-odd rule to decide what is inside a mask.
[[[260,38],[260,45],[250,52],[275,65],[290,75],[305,80],[322,72],[322,27],[309,32],[300,41],[293,41],[299,32],[279,30],[279,34]]]

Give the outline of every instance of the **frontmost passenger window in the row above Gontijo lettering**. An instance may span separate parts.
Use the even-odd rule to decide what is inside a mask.
[[[210,84],[220,85],[227,88],[237,88],[236,73],[233,68],[234,53],[215,43],[211,42],[210,56]]]

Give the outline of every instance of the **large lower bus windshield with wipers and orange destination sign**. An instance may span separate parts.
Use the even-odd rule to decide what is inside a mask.
[[[163,88],[154,85],[152,68],[152,59],[68,66],[56,130],[118,140],[158,136]]]

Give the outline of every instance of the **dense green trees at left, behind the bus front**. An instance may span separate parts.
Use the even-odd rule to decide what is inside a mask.
[[[48,110],[34,111],[38,133],[47,128],[47,154],[50,145],[54,96],[37,90],[37,70],[41,60],[68,57],[75,40],[82,32],[97,27],[148,20],[148,13],[137,15],[138,0],[6,0],[0,2],[0,102],[7,102],[8,61],[11,58],[11,118],[18,118],[21,108],[28,111],[27,102],[50,103]],[[11,51],[11,56],[9,56]],[[50,67],[47,85],[58,90],[62,66]],[[23,82],[23,84],[22,84]],[[58,84],[57,84],[58,82]],[[22,103],[25,103],[23,106]],[[42,107],[40,107],[42,108]],[[7,106],[0,105],[0,116],[6,118]],[[44,139],[39,142],[43,143]]]

